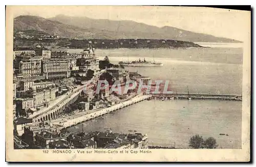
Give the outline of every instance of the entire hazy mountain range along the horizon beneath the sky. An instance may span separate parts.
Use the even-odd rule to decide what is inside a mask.
[[[156,27],[131,20],[92,19],[57,15],[52,18],[23,15],[14,18],[14,30],[37,30],[78,39],[173,39],[190,42],[241,42],[175,27]]]

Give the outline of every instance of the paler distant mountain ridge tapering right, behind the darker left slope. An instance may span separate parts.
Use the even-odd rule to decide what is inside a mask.
[[[115,39],[141,38],[141,39],[173,39],[191,42],[240,42],[228,38],[220,38],[212,35],[194,33],[174,27],[162,27],[146,25],[130,20],[92,19],[88,17],[71,17],[57,15],[50,20],[59,21],[67,25],[80,27],[91,31],[104,32],[105,35]]]

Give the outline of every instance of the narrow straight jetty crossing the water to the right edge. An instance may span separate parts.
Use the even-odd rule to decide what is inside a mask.
[[[174,99],[195,99],[195,100],[234,100],[234,101],[242,101],[242,95],[236,94],[207,94],[207,93],[159,93],[152,94],[153,98],[174,98]]]

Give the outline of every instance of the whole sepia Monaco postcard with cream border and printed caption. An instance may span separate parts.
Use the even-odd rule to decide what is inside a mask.
[[[249,161],[250,23],[213,7],[7,6],[7,161]]]

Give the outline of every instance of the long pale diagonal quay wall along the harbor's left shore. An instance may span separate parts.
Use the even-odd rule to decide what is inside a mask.
[[[118,109],[130,106],[130,105],[138,103],[138,102],[141,102],[141,101],[146,100],[147,98],[151,98],[151,97],[152,97],[151,95],[136,96],[136,97],[134,97],[134,98],[132,98],[130,100],[127,100],[125,102],[116,104],[114,106],[111,106],[111,107],[108,107],[108,108],[103,108],[103,109],[97,110],[95,112],[91,112],[91,113],[88,113],[88,114],[76,117],[76,118],[74,118],[72,120],[66,120],[65,122],[62,122],[62,123],[61,122],[55,122],[55,123],[52,123],[52,124],[59,126],[60,129],[68,128],[68,127],[77,125],[79,123],[91,120],[91,119],[93,119],[95,117],[104,115],[106,113],[110,113],[112,111],[116,111]]]

